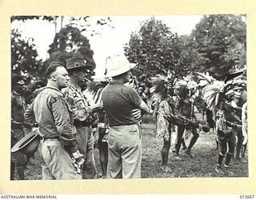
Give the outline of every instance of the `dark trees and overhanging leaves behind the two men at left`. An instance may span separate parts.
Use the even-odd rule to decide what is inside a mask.
[[[99,27],[111,26],[111,19],[109,17],[14,15],[10,18],[10,22],[27,22],[30,20],[46,20],[50,24],[54,24],[55,38],[48,50],[50,58],[46,62],[42,62],[38,58],[37,46],[34,45],[33,38],[23,39],[24,37],[22,37],[18,30],[12,30],[11,55],[13,73],[22,74],[27,78],[44,79],[43,70],[46,69],[49,62],[58,60],[66,63],[66,59],[79,55],[87,62],[87,78],[94,74],[94,53],[90,50],[89,40],[84,35],[94,36],[95,34],[101,34],[101,28]]]

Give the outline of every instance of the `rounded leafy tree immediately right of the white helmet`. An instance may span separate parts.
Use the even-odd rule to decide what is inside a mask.
[[[142,23],[138,33],[130,35],[125,46],[130,62],[138,63],[135,72],[138,77],[166,74],[174,70],[179,76],[199,68],[200,54],[188,46],[190,39],[172,33],[162,21],[150,18]]]

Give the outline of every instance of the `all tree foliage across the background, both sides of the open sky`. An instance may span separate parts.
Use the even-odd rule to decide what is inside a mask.
[[[57,19],[61,29],[57,30]],[[62,16],[14,16],[16,20],[46,20],[55,25],[54,41],[50,44],[49,58],[42,62],[33,38],[24,39],[18,30],[11,30],[11,68],[13,74],[22,74],[27,81],[44,80],[42,74],[49,62],[66,62],[74,54],[80,54],[88,64],[87,78],[94,74],[94,51],[90,49],[88,33],[92,24],[85,17]],[[154,17],[142,22],[140,30],[130,34],[124,51],[130,62],[138,63],[135,74],[140,82],[148,82],[154,74],[166,74],[175,70],[179,76],[191,72],[208,71],[222,79],[226,73],[246,65],[246,16],[234,14],[204,15],[190,35],[178,35],[162,21]],[[68,21],[68,23],[64,23]],[[110,18],[102,18],[97,26],[108,26]],[[85,34],[86,33],[86,34]]]

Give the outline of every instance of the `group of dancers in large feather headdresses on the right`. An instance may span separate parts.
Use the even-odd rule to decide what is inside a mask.
[[[243,71],[231,73],[224,81],[218,81],[210,77],[209,74],[199,74],[203,82],[199,79],[198,83],[194,81],[196,77],[180,79],[176,78],[175,73],[172,72],[167,76],[157,75],[152,78],[150,93],[153,94],[152,98],[156,101],[157,134],[163,138],[162,170],[172,171],[170,165],[167,165],[171,135],[176,138],[173,150],[174,159],[181,161],[182,158],[179,154],[181,145],[185,154],[194,158],[191,149],[197,142],[199,133],[201,131],[208,132],[210,128],[214,128],[219,150],[215,171],[219,174],[232,174],[229,165],[235,148],[237,159],[245,154],[245,149],[241,154],[242,147],[246,148],[246,131],[242,133],[242,120],[243,130],[246,130],[246,104],[243,106],[246,102],[246,95],[242,92],[246,89],[246,82],[239,78],[242,74]],[[236,77],[238,79],[233,80]],[[201,84],[199,84],[200,82]],[[210,113],[207,122],[200,122],[194,113],[194,104],[200,92],[200,97],[206,102]],[[244,114],[241,114],[242,107],[245,110]],[[221,120],[219,114],[222,114]],[[207,117],[209,117],[208,114]],[[184,142],[186,131],[192,134],[188,146]],[[226,161],[224,170],[222,170],[222,160],[225,156]]]

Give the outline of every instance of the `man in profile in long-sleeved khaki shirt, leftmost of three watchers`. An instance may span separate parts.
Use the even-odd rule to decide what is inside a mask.
[[[42,137],[38,153],[42,160],[42,179],[81,179],[82,154],[75,138],[72,111],[62,94],[70,80],[65,66],[52,62],[46,69],[47,85],[26,110],[25,118],[38,123]]]

